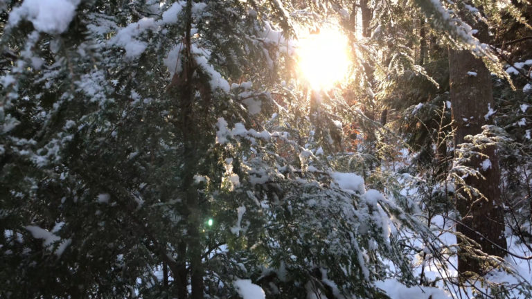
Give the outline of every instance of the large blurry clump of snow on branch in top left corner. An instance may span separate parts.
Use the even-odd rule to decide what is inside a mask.
[[[24,0],[9,14],[8,26],[26,19],[36,30],[48,34],[64,33],[69,28],[79,0]]]

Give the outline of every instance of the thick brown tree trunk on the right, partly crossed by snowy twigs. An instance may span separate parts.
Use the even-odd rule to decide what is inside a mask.
[[[466,135],[481,133],[481,126],[486,124],[484,116],[488,112],[488,105],[493,106],[490,72],[484,62],[477,59],[468,51],[449,51],[450,89],[452,115],[456,133],[454,144],[464,143]],[[468,72],[475,72],[476,75]],[[506,239],[504,237],[504,215],[501,192],[499,189],[500,169],[495,155],[495,147],[488,147],[482,151],[489,156],[491,167],[483,170],[481,163],[486,158],[472,158],[469,167],[478,169],[486,178],[469,176],[465,183],[477,188],[486,199],[480,199],[473,194],[462,194],[466,199],[458,199],[456,208],[461,214],[461,224],[456,231],[477,242],[484,253],[504,256]],[[459,239],[459,243],[464,244]],[[471,258],[468,253],[459,254],[458,267],[460,273],[468,271],[482,274],[482,265]]]

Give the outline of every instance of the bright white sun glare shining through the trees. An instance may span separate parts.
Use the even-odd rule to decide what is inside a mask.
[[[351,64],[347,37],[330,28],[299,39],[297,57],[299,74],[312,89],[331,89],[346,78]]]

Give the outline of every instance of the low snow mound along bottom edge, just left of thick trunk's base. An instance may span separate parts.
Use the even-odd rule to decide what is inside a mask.
[[[391,299],[451,299],[450,294],[434,287],[407,287],[396,279],[375,282],[375,286],[386,292]]]

